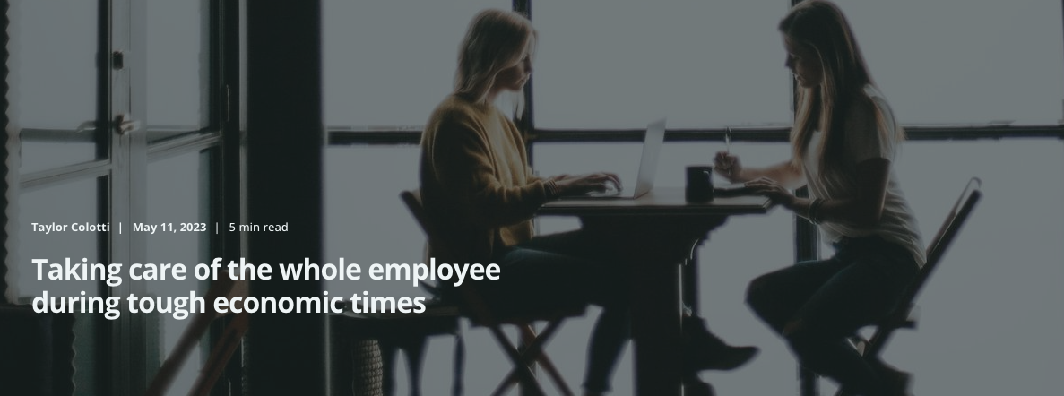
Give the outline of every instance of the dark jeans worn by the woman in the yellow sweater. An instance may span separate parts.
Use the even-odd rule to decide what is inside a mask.
[[[625,344],[631,336],[628,269],[615,257],[616,242],[578,230],[542,235],[498,252],[501,268],[478,290],[493,310],[542,312],[577,303],[602,307],[587,350],[584,389],[604,392]]]

